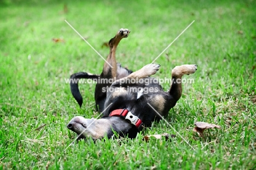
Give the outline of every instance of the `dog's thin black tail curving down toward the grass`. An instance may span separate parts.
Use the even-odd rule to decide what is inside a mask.
[[[83,97],[78,89],[78,81],[79,79],[92,79],[97,81],[100,75],[96,74],[90,74],[90,73],[85,73],[85,72],[79,72],[79,73],[74,73],[70,76],[70,89],[73,97],[75,100],[78,102],[80,107],[82,107],[83,104]]]

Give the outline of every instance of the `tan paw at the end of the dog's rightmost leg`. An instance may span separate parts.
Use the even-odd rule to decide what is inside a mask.
[[[173,75],[193,74],[197,71],[197,65],[181,65],[176,66],[172,70]]]

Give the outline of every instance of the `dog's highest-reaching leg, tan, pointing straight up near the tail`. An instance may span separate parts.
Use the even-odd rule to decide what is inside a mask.
[[[103,71],[101,77],[103,78],[115,78],[117,77],[117,61],[115,59],[115,51],[121,39],[127,38],[130,31],[121,28],[114,38],[109,40],[109,55],[107,57],[107,62],[104,63]],[[110,66],[109,66],[110,65]],[[113,68],[112,68],[113,67]]]

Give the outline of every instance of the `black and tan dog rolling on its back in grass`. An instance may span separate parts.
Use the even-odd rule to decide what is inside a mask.
[[[149,64],[136,72],[121,67],[115,60],[115,51],[122,38],[130,31],[121,28],[109,41],[110,52],[104,63],[101,75],[85,72],[71,75],[72,79],[114,79],[114,83],[98,82],[95,89],[96,109],[103,112],[101,119],[85,119],[75,116],[67,125],[79,138],[100,139],[112,137],[115,133],[121,137],[136,137],[143,126],[149,126],[154,120],[166,116],[182,95],[181,79],[184,74],[193,74],[196,65],[176,66],[172,70],[172,85],[168,92],[162,90],[158,80],[150,78],[160,65]],[[132,81],[134,80],[134,81]],[[135,81],[136,80],[136,81]],[[179,80],[179,81],[178,81]],[[71,83],[74,98],[81,106],[83,103],[78,84]],[[159,116],[158,113],[161,115]]]

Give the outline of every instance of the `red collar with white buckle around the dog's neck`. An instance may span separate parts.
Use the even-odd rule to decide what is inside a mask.
[[[110,112],[109,116],[118,116],[128,120],[131,124],[135,125],[139,130],[141,129],[141,125],[143,122],[137,116],[133,115],[127,109],[117,109]]]

